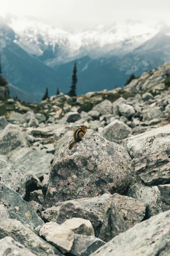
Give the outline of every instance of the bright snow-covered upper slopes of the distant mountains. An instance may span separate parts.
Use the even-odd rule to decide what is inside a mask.
[[[8,26],[18,35],[14,43],[29,54],[43,56],[41,60],[52,66],[53,62],[67,62],[85,55],[93,59],[107,53],[124,55],[154,37],[163,25],[128,20],[71,34],[30,18],[12,17]]]

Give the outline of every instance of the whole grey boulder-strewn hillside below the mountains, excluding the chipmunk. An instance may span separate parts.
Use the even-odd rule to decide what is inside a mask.
[[[123,90],[1,97],[0,255],[168,254],[169,66]]]

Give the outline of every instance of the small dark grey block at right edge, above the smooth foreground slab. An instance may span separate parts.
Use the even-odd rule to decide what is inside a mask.
[[[170,184],[158,186],[161,194],[163,212],[170,210]]]

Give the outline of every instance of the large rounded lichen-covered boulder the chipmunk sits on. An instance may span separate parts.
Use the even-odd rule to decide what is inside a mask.
[[[133,182],[133,168],[127,151],[103,137],[85,137],[72,150],[63,143],[49,175],[46,208],[74,198],[123,192]]]

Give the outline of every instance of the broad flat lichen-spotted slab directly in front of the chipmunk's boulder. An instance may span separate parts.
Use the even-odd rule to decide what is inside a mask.
[[[132,228],[145,217],[145,203],[132,197],[121,196],[117,193],[114,195],[104,194],[102,196],[92,198],[86,197],[60,202],[57,203],[58,206],[47,208],[43,211],[42,217],[45,221],[56,221],[61,206],[69,202],[74,204],[76,208],[88,211],[89,216],[94,213],[99,217],[99,220],[103,221],[106,217],[106,211],[110,206],[111,201],[113,201],[117,206],[128,228]]]

